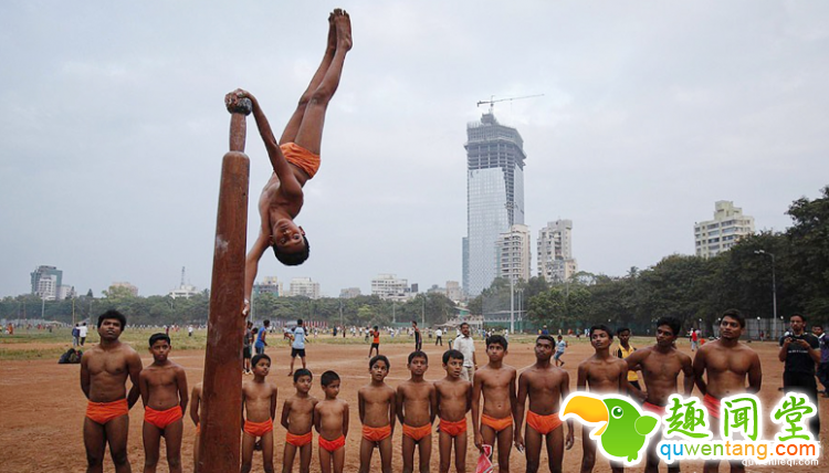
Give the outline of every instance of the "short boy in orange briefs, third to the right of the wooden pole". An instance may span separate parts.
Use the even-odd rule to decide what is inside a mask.
[[[325,400],[314,407],[314,427],[319,434],[319,465],[323,473],[343,473],[348,402],[337,399],[339,376],[336,372],[325,371],[319,380],[325,392]]]

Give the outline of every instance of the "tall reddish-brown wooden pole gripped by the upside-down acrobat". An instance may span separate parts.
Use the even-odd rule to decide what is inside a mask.
[[[238,472],[242,410],[244,253],[248,235],[250,160],[244,151],[250,101],[228,104],[230,153],[222,159],[213,242],[208,345],[201,398],[201,473]]]

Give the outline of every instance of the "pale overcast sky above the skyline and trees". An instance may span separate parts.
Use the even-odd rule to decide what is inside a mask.
[[[757,230],[829,185],[829,2],[318,1],[0,3],[0,295],[38,265],[96,295],[210,286],[223,96],[279,136],[335,7],[354,49],[297,218],[324,295],[395,273],[461,281],[468,122],[495,105],[527,154],[526,223],[574,221],[579,269],[693,253],[733,200]],[[249,122],[249,243],[271,172]],[[533,255],[535,260],[535,255]],[[535,261],[533,261],[535,273]]]

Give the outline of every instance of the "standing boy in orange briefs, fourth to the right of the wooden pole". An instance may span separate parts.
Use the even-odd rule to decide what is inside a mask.
[[[382,473],[391,473],[391,435],[395,433],[395,410],[397,407],[395,390],[384,380],[389,375],[389,359],[377,355],[368,361],[371,382],[357,392],[363,441],[360,442],[360,473],[368,473],[371,467],[371,454],[375,446],[380,448]]]

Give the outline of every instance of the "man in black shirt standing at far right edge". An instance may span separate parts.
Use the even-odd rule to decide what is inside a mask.
[[[815,381],[815,364],[820,362],[820,346],[817,337],[804,332],[806,317],[793,314],[789,318],[791,330],[780,338],[780,361],[784,361],[783,390],[785,392],[802,392],[818,404],[818,385]],[[809,430],[815,440],[820,435],[820,419],[818,416],[809,420]]]

